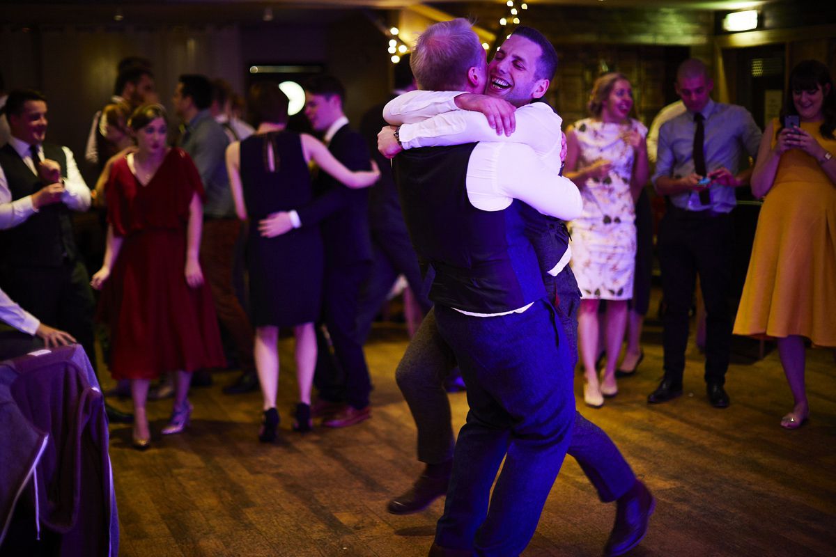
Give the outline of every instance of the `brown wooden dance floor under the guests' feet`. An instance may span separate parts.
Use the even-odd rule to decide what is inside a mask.
[[[644,341],[639,372],[620,380],[618,396],[604,408],[585,407],[580,371],[575,381],[581,413],[609,433],[658,498],[647,537],[630,554],[836,555],[831,352],[808,350],[813,414],[791,432],[778,426],[792,398],[776,350],[756,361],[757,344],[736,341],[726,381],[732,405],[716,409],[706,399],[704,358],[691,342],[685,394],[651,406],[645,397],[661,376],[658,322],[647,324]],[[257,442],[259,393],[221,392],[237,372],[215,373],[212,387],[192,389],[195,412],[179,435],[160,435],[171,400],[150,402],[153,444],[145,453],[130,447],[130,427],[112,426],[120,555],[426,555],[443,503],[420,514],[386,512],[389,499],[422,469],[415,459],[415,425],[394,380],[406,344],[403,326],[375,326],[366,346],[373,414],[350,428],[291,431],[293,339],[281,341],[277,443]],[[113,403],[130,408],[129,401]],[[466,395],[452,394],[451,403],[457,431]],[[600,503],[578,464],[567,458],[523,555],[600,555],[614,513],[614,504]]]

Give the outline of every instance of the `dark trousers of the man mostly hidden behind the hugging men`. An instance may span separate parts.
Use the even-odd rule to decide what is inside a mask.
[[[406,230],[372,230],[372,262],[369,276],[360,290],[357,316],[359,342],[369,336],[371,322],[386,300],[398,275],[406,277],[415,300],[426,315],[432,302],[421,294],[421,269]]]

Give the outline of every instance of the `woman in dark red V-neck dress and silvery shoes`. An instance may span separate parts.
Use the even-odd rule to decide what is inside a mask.
[[[145,104],[130,116],[135,153],[116,160],[105,186],[108,206],[97,318],[110,327],[110,372],[130,379],[134,446],[150,445],[145,401],[152,379],[176,371],[171,423],[191,417],[191,372],[225,365],[212,294],[198,261],[203,186],[185,151],[166,147],[166,112]]]

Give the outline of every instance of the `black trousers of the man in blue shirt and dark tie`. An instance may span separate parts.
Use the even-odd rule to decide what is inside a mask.
[[[706,302],[707,383],[726,380],[732,342],[728,302],[734,226],[731,215],[700,217],[670,206],[659,223],[656,249],[665,299],[665,377],[681,382],[696,276]]]

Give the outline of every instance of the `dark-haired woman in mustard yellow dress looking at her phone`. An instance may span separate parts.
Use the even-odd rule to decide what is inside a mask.
[[[804,60],[790,73],[781,119],[767,124],[752,171],[752,193],[763,205],[734,325],[738,335],[777,339],[795,401],[781,418],[788,429],[810,413],[804,339],[836,357],[834,129],[833,79],[823,63]]]

